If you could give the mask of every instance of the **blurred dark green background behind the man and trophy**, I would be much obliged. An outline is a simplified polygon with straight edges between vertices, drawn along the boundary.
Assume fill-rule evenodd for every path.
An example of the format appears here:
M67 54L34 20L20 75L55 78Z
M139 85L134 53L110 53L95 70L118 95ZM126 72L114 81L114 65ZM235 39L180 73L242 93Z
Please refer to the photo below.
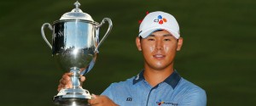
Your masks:
M41 26L71 11L76 0L6 0L0 3L1 106L54 106L64 71L57 69ZM256 105L256 1L79 0L84 13L113 20L84 88L101 94L112 82L143 70L135 38L146 12L173 14L183 48L175 69L207 92L208 106ZM102 26L101 35L108 25ZM51 32L45 30L50 40Z

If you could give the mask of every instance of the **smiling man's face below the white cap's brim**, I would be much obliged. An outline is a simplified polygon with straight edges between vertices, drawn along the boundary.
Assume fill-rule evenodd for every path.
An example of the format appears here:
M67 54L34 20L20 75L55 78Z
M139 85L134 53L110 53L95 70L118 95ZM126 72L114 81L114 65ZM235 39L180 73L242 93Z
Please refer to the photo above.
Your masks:
M141 47L145 65L155 70L163 70L173 64L177 51L177 39L168 31L155 31L142 39Z

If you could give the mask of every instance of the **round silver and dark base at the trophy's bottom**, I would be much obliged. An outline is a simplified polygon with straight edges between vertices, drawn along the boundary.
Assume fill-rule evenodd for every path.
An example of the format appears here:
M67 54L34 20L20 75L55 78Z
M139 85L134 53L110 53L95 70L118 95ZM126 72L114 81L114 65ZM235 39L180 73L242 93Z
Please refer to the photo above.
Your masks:
M53 102L61 106L89 106L87 100L90 98L90 92L82 88L62 89Z

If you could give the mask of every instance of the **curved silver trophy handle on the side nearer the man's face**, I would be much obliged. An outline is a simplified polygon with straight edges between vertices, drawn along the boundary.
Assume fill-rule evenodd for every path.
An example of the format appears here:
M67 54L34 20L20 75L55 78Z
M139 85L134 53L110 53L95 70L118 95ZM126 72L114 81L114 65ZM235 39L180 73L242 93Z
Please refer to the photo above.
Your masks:
M105 21L108 21L108 31L105 33L105 35L102 37L101 42L99 42L98 46L96 47L96 49L95 49L96 53L99 53L98 48L102 45L102 42L105 41L105 39L107 38L109 32L112 30L113 24L112 24L112 20L110 20L109 18L104 18L102 20L102 23L100 25L97 25L96 28L100 28L103 24L105 24Z

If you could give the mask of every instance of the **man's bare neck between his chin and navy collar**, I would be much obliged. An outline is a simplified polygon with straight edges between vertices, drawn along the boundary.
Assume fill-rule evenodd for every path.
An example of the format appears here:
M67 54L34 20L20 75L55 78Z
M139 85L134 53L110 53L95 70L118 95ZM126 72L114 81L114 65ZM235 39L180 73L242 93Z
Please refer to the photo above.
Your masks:
M150 86L157 86L160 82L165 81L168 76L172 75L173 71L173 66L170 66L164 70L154 70L145 67L143 75Z

